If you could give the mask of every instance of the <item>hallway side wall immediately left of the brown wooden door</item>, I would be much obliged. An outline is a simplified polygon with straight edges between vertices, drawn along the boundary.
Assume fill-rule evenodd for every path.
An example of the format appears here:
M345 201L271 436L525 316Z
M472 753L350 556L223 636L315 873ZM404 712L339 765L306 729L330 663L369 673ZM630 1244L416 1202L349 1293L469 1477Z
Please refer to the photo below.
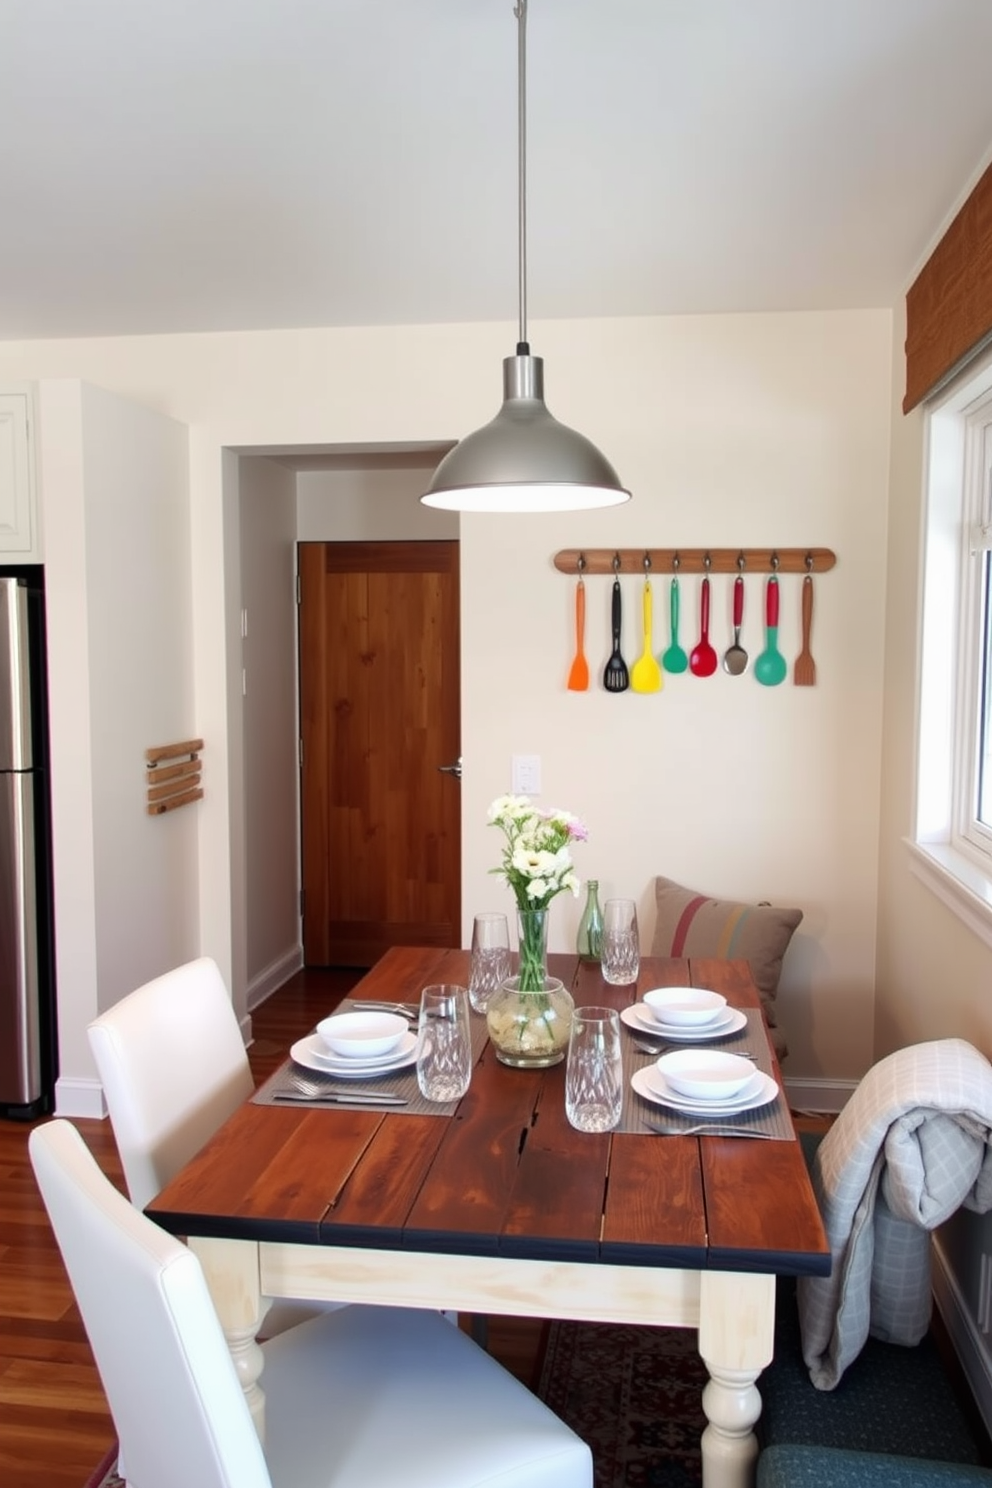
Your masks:
M241 460L244 844L248 1007L302 963L296 704L296 481Z

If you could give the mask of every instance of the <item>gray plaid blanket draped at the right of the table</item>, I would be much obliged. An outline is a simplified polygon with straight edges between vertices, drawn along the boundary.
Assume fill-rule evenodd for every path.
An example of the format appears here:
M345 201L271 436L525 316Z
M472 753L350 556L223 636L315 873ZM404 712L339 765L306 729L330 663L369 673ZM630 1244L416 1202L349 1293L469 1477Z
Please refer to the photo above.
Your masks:
M833 1268L797 1284L803 1359L833 1390L869 1333L918 1344L930 1323L930 1231L992 1208L992 1064L962 1039L900 1049L864 1076L824 1137L814 1189Z

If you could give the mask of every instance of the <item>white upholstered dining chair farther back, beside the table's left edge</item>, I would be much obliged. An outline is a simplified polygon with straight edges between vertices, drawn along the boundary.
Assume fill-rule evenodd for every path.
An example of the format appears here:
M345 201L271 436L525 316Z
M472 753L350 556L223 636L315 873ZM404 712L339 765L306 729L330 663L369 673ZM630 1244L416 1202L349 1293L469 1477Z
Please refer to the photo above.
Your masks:
M177 966L86 1030L131 1202L159 1193L254 1091L238 1016L217 963ZM333 1302L275 1302L272 1336Z

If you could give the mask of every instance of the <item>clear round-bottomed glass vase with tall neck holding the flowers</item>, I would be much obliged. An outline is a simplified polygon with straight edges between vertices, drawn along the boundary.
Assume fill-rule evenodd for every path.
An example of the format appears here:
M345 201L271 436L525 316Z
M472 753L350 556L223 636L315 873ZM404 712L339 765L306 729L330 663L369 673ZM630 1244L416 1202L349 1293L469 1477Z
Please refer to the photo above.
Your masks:
M547 909L518 911L518 973L489 998L486 1027L501 1064L546 1068L565 1058L574 1003L564 982L547 975Z

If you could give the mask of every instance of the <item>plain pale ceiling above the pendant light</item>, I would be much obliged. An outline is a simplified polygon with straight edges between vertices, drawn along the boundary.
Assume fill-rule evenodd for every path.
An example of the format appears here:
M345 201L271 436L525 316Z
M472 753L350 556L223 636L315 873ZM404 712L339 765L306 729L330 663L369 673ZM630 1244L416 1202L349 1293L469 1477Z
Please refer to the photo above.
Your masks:
M0 338L518 312L513 0L0 0ZM892 305L989 0L529 0L534 320Z

